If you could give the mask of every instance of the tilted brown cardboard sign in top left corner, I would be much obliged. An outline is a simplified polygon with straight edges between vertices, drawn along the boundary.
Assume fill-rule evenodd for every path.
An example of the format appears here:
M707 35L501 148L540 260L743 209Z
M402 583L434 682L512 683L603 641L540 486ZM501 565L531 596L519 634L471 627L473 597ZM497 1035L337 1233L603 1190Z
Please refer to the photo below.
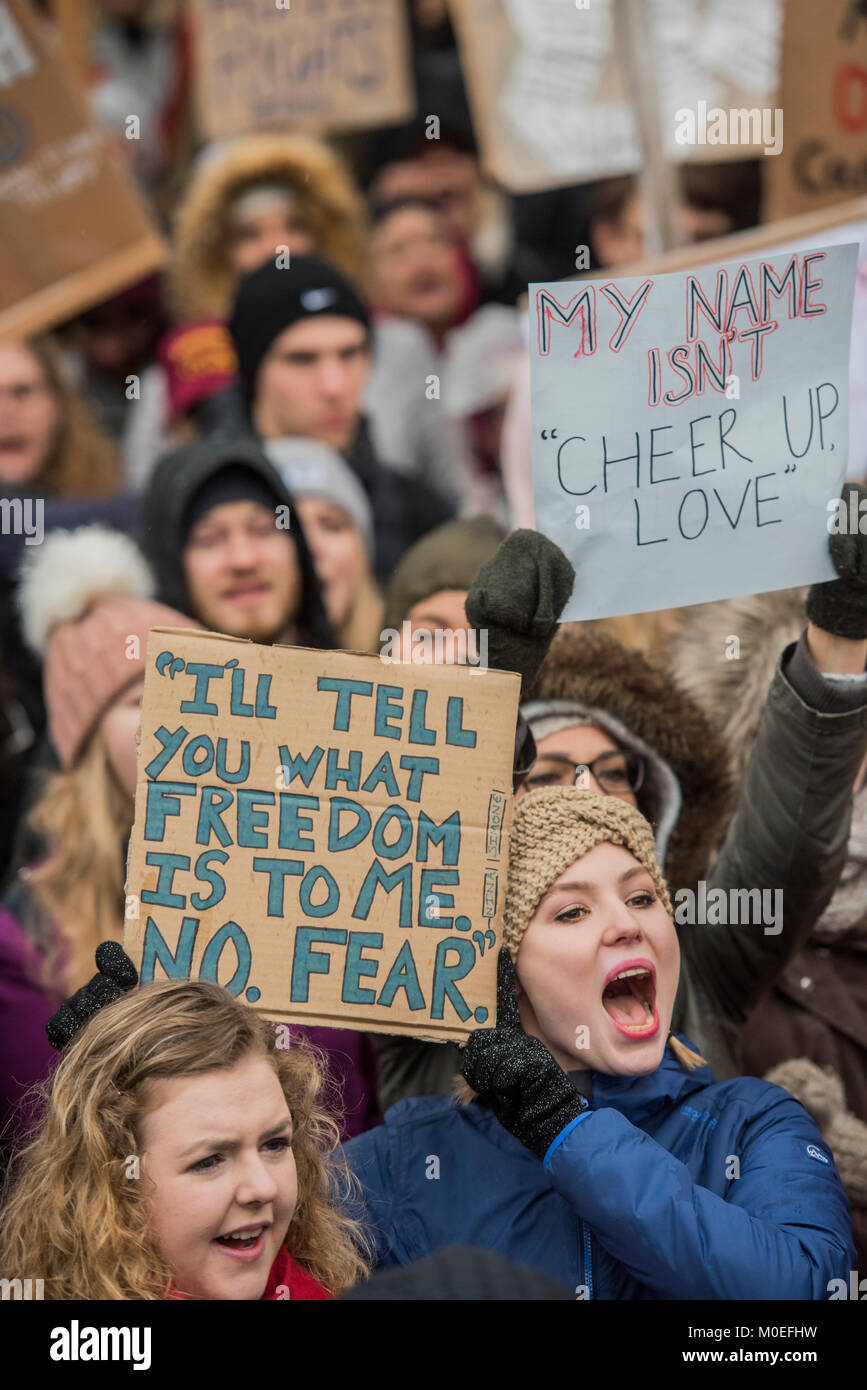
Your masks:
M165 245L54 33L0 0L0 338L25 338L157 270Z

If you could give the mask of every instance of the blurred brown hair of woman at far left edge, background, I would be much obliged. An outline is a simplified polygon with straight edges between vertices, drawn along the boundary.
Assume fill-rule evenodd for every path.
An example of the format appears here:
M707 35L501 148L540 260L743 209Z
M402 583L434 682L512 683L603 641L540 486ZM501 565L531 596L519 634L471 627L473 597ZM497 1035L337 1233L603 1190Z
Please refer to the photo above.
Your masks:
M121 475L117 450L69 381L61 349L47 336L29 338L21 346L36 357L58 411L54 448L33 481L49 496L58 498L117 491Z

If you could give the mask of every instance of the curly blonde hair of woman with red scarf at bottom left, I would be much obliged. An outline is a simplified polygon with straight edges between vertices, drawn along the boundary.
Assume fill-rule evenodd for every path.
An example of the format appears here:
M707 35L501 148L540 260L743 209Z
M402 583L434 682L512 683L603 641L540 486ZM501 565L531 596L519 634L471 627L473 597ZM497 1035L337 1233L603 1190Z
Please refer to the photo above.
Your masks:
M0 1234L4 1277L44 1279L53 1300L161 1300L172 1275L146 1194L142 1120L151 1083L261 1056L292 1112L297 1205L285 1245L336 1294L370 1264L361 1227L339 1209L356 1180L324 1108L324 1059L303 1040L278 1048L274 1023L217 984L149 984L94 1015L50 1083L38 1137L13 1158ZM132 1172L131 1172L132 1168ZM136 1175L136 1176L133 1176Z

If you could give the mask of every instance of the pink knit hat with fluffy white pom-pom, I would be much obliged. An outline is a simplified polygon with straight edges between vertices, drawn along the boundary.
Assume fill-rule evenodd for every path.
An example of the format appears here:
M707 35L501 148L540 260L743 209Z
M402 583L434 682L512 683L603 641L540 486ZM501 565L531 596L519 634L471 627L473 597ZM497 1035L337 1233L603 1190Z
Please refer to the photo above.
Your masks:
M135 543L101 525L54 531L28 555L18 591L24 635L43 657L49 733L75 764L108 706L144 673L151 627L196 627L154 603Z

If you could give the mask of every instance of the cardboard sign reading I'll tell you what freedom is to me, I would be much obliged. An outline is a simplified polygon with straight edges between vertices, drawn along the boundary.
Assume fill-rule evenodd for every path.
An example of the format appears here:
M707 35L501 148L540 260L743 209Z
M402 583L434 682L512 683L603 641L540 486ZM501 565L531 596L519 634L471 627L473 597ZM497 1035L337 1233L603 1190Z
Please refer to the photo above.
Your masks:
M495 1020L520 677L154 628L124 945L275 1019Z

